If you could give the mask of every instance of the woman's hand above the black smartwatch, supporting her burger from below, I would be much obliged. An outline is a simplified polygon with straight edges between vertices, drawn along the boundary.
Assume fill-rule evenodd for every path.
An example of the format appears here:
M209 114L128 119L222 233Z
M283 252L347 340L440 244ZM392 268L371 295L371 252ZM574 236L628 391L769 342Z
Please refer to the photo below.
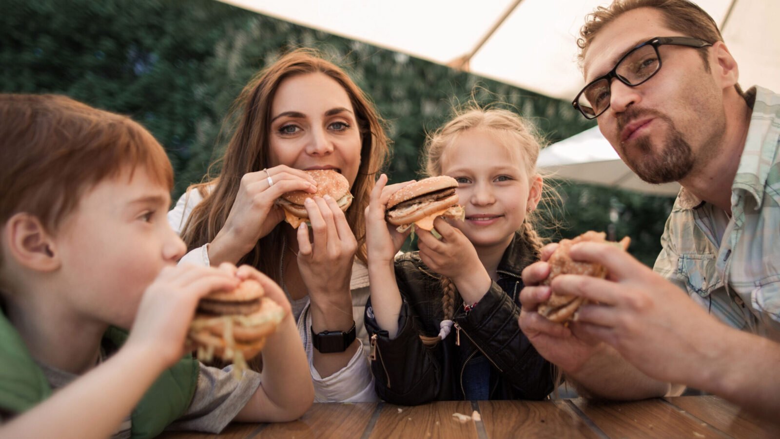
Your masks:
M306 223L301 223L298 227L297 262L311 303L317 308L314 316L322 312L329 319L330 309L335 308L345 314L339 321L343 320L345 324L349 322L351 326L353 316L349 280L352 277L357 240L344 212L329 195L307 198L303 206L309 214L312 236L310 240L309 228ZM321 322L315 323L316 330Z

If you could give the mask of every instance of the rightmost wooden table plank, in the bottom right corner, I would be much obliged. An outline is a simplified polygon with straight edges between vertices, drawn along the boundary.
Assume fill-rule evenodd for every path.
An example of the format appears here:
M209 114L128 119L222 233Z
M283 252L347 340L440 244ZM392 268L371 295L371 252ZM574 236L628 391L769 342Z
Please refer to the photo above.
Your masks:
M678 396L666 401L733 437L780 437L780 426L743 412L717 396Z

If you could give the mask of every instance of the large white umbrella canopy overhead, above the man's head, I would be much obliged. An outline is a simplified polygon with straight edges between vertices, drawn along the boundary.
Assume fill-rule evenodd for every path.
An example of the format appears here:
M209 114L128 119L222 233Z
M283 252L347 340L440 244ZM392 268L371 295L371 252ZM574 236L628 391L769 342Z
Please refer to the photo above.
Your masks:
M576 35L608 0L223 0L307 27L570 100ZM780 91L778 0L697 0L722 27L744 88ZM663 35L652 35L663 36Z

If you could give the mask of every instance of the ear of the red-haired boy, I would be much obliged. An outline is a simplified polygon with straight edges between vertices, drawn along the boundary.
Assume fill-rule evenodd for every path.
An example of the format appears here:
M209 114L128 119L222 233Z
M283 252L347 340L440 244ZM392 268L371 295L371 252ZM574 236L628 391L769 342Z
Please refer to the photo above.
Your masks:
M36 271L53 271L60 266L55 241L41 220L26 212L16 213L3 230L9 254L20 265Z

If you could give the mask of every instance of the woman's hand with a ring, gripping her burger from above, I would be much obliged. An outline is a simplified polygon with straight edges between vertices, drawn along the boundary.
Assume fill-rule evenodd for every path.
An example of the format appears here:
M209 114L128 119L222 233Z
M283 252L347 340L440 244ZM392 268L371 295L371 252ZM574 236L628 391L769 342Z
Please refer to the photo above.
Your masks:
M268 177L273 184L268 184ZM284 219L284 212L275 201L290 191L313 194L317 182L305 171L285 165L244 174L225 226L209 247L211 265L223 261L235 263L250 252L261 237Z

